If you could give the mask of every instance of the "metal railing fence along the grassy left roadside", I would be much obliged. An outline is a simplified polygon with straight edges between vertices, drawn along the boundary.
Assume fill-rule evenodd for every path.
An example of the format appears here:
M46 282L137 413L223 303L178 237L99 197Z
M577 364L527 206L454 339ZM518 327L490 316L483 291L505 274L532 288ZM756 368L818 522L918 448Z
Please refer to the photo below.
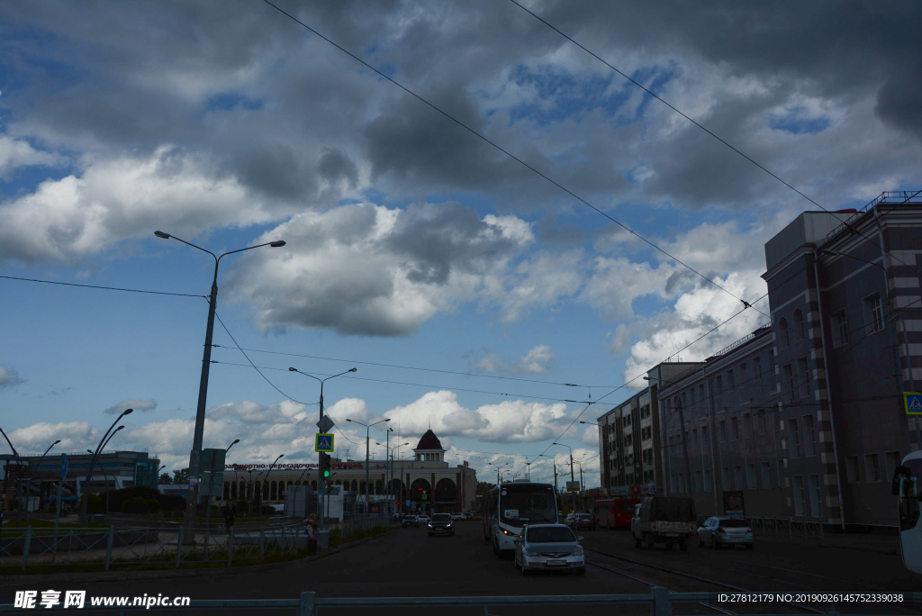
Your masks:
M28 571L82 565L109 571L138 564L179 568L183 563L253 564L284 558L306 548L302 521L225 532L217 527L53 528L27 527L22 534L0 540L0 567Z

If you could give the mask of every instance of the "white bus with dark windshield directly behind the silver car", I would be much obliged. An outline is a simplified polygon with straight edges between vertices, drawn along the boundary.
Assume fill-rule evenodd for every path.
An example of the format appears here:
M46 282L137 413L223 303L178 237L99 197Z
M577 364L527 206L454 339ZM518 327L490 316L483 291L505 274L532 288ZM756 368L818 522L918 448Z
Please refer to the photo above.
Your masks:
M493 553L514 551L527 524L557 524L557 497L550 483L501 483L483 495L483 539Z

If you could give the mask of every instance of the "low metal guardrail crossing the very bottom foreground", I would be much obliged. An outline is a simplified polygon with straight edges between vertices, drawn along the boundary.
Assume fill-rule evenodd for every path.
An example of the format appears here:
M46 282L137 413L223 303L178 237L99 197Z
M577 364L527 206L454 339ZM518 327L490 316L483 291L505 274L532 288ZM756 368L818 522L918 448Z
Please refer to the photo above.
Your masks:
M688 603L696 601L709 601L721 603L727 601L727 597L739 595L740 593L715 593L715 592L697 592L697 593L674 593L669 592L667 588L654 586L648 594L635 595L544 595L544 596L525 596L525 597L327 597L318 598L316 593L303 592L300 598L292 599L214 599L214 600L193 600L188 606L146 606L143 603L132 606L112 606L98 607L87 604L85 611L136 611L136 610L295 610L298 616L316 616L322 608L447 608L447 607L465 607L483 608L484 616L489 616L489 608L497 606L533 606L533 605L559 605L561 608L569 608L575 605L619 605L619 604L647 604L652 610L652 616L672 616L674 603ZM898 605L904 605L909 601L922 600L920 592L892 592L885 593L892 598L892 601L898 601ZM766 599L760 601L760 604L773 606L777 601L791 601L796 596L790 591L768 592L760 591L759 595ZM824 591L822 598L850 597L854 593L845 591ZM771 597L772 599L768 599ZM790 598L790 599L789 599ZM140 599L140 598L138 598ZM828 601L818 601L828 603ZM831 603L829 614L837 615ZM60 610L60 606L53 609ZM0 605L0 614L22 611L21 607L6 604ZM44 611L44 610L42 610ZM473 613L473 612L472 612ZM886 613L886 612L883 612ZM892 612L891 612L892 613ZM751 615L756 616L756 615ZM849 615L851 616L851 615ZM878 616L881 616L880 614Z

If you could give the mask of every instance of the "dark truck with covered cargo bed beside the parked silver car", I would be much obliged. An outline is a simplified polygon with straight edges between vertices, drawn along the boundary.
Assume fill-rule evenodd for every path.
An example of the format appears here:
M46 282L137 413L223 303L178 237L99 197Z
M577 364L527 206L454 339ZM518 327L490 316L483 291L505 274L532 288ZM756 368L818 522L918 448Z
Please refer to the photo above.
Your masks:
M653 550L656 543L665 543L668 550L676 543L681 551L688 550L688 541L697 532L698 518L690 498L676 496L646 496L634 507L631 533L634 546L646 543Z

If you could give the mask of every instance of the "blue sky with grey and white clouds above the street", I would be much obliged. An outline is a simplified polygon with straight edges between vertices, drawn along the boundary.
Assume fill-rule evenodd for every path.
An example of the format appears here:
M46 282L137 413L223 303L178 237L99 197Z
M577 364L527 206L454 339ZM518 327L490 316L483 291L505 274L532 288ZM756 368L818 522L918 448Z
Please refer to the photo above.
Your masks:
M0 275L199 296L0 278L0 425L81 451L133 408L111 447L187 466L213 262L153 231L282 239L221 261L206 446L313 460L288 368L357 367L325 385L339 456L391 419L481 471L559 440L597 485L573 421L761 297L816 207L513 2L278 6L441 113L257 0L0 7ZM526 6L822 207L919 187L916 2Z

